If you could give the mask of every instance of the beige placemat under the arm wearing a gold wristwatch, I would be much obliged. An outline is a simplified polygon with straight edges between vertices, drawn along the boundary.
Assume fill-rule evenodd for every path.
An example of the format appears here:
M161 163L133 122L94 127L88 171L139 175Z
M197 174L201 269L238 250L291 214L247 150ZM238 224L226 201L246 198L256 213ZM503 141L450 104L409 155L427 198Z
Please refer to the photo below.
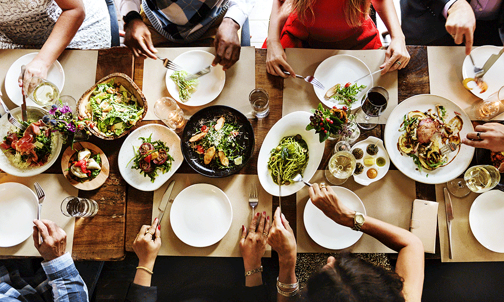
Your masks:
M324 171L319 170L311 182L325 181ZM353 191L364 203L366 214L382 221L409 230L411 209L415 199L415 182L397 170L389 171L381 180L368 186L357 184L353 177L342 187ZM304 207L308 201L308 190L302 189L296 193L297 200L297 252L298 253L329 253L315 243L304 228ZM394 253L373 237L362 234L362 237L351 247L345 249L352 253Z

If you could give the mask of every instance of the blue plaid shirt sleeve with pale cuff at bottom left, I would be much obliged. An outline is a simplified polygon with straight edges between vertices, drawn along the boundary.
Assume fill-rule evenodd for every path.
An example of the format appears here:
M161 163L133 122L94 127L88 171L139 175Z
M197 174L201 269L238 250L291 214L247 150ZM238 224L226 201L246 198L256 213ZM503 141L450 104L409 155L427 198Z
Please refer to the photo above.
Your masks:
M88 289L75 268L70 253L42 262L54 302L89 302Z

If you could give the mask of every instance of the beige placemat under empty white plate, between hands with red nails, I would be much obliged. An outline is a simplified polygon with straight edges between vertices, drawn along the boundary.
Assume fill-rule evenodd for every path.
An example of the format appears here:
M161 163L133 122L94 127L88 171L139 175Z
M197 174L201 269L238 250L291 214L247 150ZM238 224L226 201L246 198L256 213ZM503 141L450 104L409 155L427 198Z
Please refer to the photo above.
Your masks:
M173 233L170 224L170 208L168 203L161 223L161 250L159 255L163 256L214 256L214 257L241 257L238 242L241 236L241 226L248 228L252 215L252 208L248 206L248 193L250 184L256 183L259 192L259 204L255 212L266 211L271 217L272 196L263 190L257 175L232 175L226 178L208 178L200 174L175 174L171 180L175 181L173 196L176 196L184 188L198 183L212 184L226 193L233 208L233 221L227 234L216 244L195 248L186 245ZM152 205L152 218L159 214L159 203L163 197L170 181L167 181L161 188L154 191L154 201ZM268 245L264 257L271 257L271 247Z

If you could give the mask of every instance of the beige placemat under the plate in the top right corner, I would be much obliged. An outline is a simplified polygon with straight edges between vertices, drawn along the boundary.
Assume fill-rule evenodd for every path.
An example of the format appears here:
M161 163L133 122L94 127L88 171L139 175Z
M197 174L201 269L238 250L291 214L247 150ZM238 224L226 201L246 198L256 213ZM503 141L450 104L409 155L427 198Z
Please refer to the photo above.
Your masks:
M430 94L449 99L459 105L471 120L474 103L480 98L462 85L462 63L466 57L464 46L427 46ZM504 114L494 119L504 119Z

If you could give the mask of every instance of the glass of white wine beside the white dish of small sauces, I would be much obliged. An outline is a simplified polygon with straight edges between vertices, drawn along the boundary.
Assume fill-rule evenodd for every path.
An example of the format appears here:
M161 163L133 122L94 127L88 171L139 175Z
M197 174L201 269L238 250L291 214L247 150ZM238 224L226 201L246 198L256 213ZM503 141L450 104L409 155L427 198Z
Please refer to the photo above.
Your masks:
M350 144L340 141L335 147L336 153L329 159L324 173L327 181L333 185L343 184L355 171L355 157L348 150Z

